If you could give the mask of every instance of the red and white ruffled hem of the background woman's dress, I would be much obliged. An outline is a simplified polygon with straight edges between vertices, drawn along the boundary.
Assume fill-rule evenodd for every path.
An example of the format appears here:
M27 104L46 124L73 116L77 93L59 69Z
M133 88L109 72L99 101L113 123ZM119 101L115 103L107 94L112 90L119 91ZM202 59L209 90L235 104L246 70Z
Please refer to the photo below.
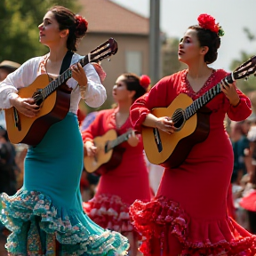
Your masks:
M119 196L101 194L83 203L84 212L102 228L116 232L135 231L129 216L129 204Z

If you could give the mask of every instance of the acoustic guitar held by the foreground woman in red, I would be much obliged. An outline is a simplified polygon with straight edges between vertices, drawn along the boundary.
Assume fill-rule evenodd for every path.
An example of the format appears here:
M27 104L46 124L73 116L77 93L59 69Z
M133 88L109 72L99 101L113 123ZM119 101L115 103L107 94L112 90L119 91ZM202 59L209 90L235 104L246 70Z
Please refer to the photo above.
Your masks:
M142 126L142 140L148 161L171 168L182 164L191 148L208 137L211 111L205 105L221 92L220 85L247 79L252 74L255 76L255 70L256 56L253 56L195 101L187 94L180 93L167 108L152 109L151 113L156 117L170 116L177 132L168 134L157 128Z

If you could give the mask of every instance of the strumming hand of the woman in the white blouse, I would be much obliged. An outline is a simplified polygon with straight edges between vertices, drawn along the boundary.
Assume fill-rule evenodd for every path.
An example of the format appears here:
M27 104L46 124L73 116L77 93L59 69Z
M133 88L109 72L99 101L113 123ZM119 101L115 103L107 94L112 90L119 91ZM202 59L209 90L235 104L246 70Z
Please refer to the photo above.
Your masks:
M11 99L10 103L20 113L28 117L35 117L40 111L40 107L35 104L35 100L32 98L20 98Z

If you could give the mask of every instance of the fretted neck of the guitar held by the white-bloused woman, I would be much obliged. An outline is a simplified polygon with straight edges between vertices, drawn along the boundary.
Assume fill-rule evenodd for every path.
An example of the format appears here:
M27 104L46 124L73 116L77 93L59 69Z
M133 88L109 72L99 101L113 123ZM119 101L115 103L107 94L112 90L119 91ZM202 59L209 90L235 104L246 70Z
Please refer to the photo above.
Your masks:
M86 64L90 62L89 55L90 54L85 55L84 58L78 60L77 63L79 62L82 65L82 67L84 67ZM46 99L52 92L54 92L61 84L66 83L68 79L71 78L71 76L72 76L72 71L70 68L68 68L55 80L52 80L50 84L48 84L44 89L42 89L42 94L44 95L44 99Z

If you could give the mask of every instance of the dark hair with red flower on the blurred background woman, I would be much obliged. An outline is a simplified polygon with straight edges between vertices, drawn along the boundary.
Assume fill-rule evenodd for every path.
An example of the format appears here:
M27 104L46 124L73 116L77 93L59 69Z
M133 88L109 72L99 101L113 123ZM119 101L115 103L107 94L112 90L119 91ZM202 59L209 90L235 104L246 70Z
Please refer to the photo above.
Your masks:
M124 73L122 76L124 76L124 84L126 84L126 88L128 91L135 91L136 93L134 94L133 100L137 100L148 92L148 85L150 84L150 79L148 77L148 83L141 83L141 77L142 76L137 76L133 73Z

